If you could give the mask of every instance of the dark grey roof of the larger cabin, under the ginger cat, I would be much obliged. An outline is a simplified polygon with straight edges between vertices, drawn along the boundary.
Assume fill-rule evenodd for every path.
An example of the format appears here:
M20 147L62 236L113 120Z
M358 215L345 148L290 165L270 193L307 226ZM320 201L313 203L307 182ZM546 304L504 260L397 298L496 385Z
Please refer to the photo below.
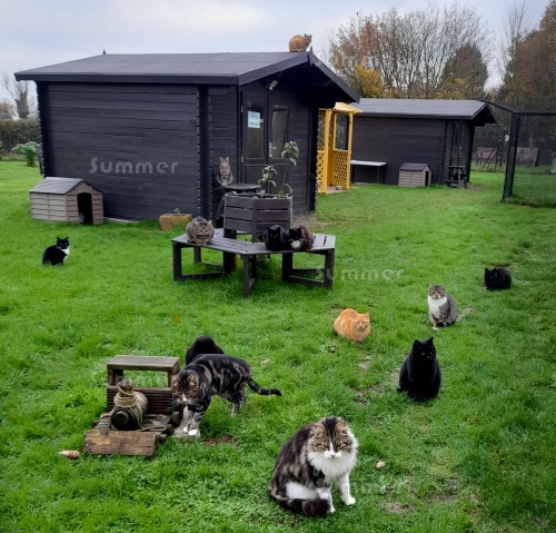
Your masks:
M221 53L102 53L59 65L16 72L18 80L70 82L147 82L242 86L285 70L306 66L309 85L340 89L342 99L359 95L335 75L312 51Z

